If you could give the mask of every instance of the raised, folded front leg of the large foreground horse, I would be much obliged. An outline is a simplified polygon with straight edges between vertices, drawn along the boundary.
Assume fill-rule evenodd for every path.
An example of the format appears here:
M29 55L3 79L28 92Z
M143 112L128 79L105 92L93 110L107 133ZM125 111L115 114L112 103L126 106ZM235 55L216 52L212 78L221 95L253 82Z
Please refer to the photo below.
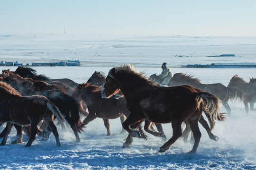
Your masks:
M136 124L137 122L141 122L143 121L144 118L140 118L137 115L132 115L130 114L128 116L128 118L123 122L123 127L126 131L128 131L128 133L133 136L133 137L138 137L138 138L143 138L143 139L147 139L145 133L142 133L138 130L132 129L130 127L130 125ZM139 124L138 124L139 125ZM137 128L137 127L136 127Z

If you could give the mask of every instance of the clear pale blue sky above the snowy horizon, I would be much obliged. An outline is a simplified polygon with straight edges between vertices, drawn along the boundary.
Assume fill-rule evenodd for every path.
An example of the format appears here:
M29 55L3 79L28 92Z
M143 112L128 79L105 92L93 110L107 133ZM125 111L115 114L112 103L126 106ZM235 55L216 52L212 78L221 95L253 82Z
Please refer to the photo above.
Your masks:
M0 0L0 34L256 36L256 0Z

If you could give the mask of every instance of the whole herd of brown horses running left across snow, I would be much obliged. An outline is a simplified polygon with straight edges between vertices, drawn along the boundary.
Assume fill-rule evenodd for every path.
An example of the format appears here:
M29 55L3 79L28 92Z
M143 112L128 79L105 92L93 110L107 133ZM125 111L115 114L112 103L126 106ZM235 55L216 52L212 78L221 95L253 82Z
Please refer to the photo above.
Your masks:
M200 80L183 73L174 74L169 84L161 85L159 76L148 79L133 65L112 68L108 76L93 73L86 83L77 84L70 79L50 79L37 75L36 70L20 66L16 71L3 70L0 74L0 126L7 122L0 134L6 144L11 128L17 129L17 139L12 144L22 143L22 130L29 137L30 146L35 136L47 139L54 134L57 147L59 135L54 120L64 128L68 123L80 142L78 133L96 118L102 118L111 136L109 119L120 118L128 137L123 148L130 147L133 137L147 139L144 130L166 140L162 123L172 123L173 136L160 147L165 152L179 138L187 141L190 132L194 145L189 153L196 153L201 138L198 122L206 129L210 139L219 140L211 133L215 121L225 119L219 113L222 103L231 113L229 100L244 102L248 113L256 102L256 79L245 82L233 76L228 87L218 84L201 84ZM86 111L88 109L88 112ZM203 118L206 115L210 126ZM81 122L81 117L86 118ZM144 130L141 123L145 121ZM182 123L186 124L182 132ZM39 127L38 127L39 126ZM154 129L157 128L157 131Z

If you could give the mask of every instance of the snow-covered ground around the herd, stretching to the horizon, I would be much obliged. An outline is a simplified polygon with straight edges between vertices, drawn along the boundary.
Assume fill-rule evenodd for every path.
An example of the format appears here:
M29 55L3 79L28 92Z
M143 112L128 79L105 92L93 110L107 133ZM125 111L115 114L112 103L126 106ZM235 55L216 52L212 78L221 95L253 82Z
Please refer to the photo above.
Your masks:
M145 71L150 76L161 73L160 66L163 61L166 61L167 65L256 61L256 42L250 37L157 39L132 37L124 40L112 38L109 41L99 38L94 43L93 40L68 42L66 38L52 40L49 37L41 37L40 41L35 38L36 42L31 41L33 39L33 36L1 37L0 60L31 63L35 60L79 59L84 61L83 66L88 67L34 67L38 74L45 74L50 78L70 78L77 83L86 82L94 71L107 74L113 66L127 62L135 63L138 70ZM90 46L93 44L95 45ZM81 48L78 48L79 46ZM76 54L73 54L74 51L77 51ZM205 57L225 53L232 53L237 57ZM175 54L184 57L176 57ZM185 57L186 55L190 57ZM0 67L0 69L8 68L15 70L17 67ZM204 84L228 85L235 74L243 77L245 81L249 81L249 77L256 77L255 68L171 68L171 70L173 73L192 74ZM231 116L226 121L217 122L213 129L213 134L219 136L218 142L210 140L200 125L202 137L196 154L186 154L192 149L192 144L185 144L183 140L177 140L166 153L158 153L159 147L165 142L150 134L147 135L147 141L136 138L130 148L121 149L128 134L120 134L120 119L110 120L112 136L107 137L103 120L97 118L84 128L84 132L80 135L80 143L75 143L72 130L62 131L61 127L58 127L61 148L55 147L53 135L48 141L40 141L40 137L37 137L30 148L24 147L28 141L25 135L23 144L10 144L16 138L16 130L12 129L7 144L0 146L0 169L255 170L256 112L249 111L246 115L243 103L229 102L229 104L232 109ZM226 110L222 108L221 112ZM0 131L4 127L0 127ZM163 128L167 138L170 138L171 124L164 124Z

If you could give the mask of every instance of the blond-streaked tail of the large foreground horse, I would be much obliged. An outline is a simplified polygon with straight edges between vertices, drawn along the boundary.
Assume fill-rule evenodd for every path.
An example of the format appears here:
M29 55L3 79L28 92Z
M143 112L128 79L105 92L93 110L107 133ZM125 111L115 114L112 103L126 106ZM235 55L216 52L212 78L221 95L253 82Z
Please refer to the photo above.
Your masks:
M199 100L199 106L203 101L203 111L210 122L211 131L215 125L215 120L223 121L225 119L225 113L219 113L221 101L218 97L208 92L198 92L196 97Z

